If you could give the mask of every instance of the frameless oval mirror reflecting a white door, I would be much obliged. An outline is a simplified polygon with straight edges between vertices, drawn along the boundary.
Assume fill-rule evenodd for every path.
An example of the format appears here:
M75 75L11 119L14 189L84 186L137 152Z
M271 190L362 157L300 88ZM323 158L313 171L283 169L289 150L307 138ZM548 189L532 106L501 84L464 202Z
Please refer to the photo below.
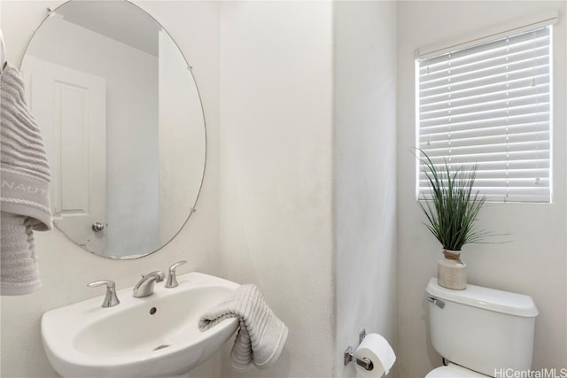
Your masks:
M106 258L138 258L190 217L206 132L183 54L124 0L50 11L21 66L50 158L56 226Z

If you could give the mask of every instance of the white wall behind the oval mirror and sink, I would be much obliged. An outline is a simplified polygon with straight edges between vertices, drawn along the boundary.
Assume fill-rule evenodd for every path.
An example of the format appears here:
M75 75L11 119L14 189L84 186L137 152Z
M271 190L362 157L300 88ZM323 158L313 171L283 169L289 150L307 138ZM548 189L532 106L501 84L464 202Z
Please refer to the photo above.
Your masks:
M19 66L27 42L46 16L47 6L62 1L6 1L0 4L7 58ZM117 261L99 258L68 241L58 230L35 233L35 251L40 261L43 289L24 297L1 297L1 359L3 377L51 377L57 374L47 361L40 340L43 312L89 297L103 289L85 285L99 279L116 281L117 287L134 285L140 274L167 269L187 259L180 273L197 270L219 274L219 4L209 2L144 1L139 3L159 20L175 38L193 66L203 97L207 122L207 169L199 197L198 212L172 243L147 258ZM108 57L105 57L108 58ZM200 376L221 374L220 354L194 372Z

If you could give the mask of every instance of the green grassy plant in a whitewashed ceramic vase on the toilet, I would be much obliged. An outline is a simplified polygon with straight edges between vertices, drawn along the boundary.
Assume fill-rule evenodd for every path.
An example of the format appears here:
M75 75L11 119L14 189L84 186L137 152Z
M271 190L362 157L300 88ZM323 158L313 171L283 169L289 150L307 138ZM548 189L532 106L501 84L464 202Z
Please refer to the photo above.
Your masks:
M478 166L450 166L438 168L423 150L423 174L431 197L419 201L427 222L425 225L443 246L444 258L438 262L438 283L447 289L466 289L466 265L461 261L462 246L478 242L486 235L475 228L475 221L486 197L473 189Z

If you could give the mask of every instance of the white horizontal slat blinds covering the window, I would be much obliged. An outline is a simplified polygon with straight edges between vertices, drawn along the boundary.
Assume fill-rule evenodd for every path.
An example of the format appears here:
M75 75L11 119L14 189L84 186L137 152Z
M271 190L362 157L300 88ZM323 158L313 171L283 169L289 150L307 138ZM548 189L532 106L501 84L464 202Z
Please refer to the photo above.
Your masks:
M550 202L550 45L542 27L417 59L418 147L435 165L477 163L488 201Z

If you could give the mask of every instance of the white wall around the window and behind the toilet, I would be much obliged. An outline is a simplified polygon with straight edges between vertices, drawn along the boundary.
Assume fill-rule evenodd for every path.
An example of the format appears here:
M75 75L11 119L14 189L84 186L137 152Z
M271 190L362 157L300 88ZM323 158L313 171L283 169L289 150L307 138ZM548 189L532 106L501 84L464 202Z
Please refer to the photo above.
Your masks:
M478 222L509 233L505 244L465 246L469 282L527 294L540 310L534 369L567 366L565 186L565 2L400 2L398 4L398 355L400 377L422 377L441 359L427 328L425 285L436 274L441 247L423 226L415 200L414 50L548 9L561 11L554 27L555 127L553 204L486 206Z

